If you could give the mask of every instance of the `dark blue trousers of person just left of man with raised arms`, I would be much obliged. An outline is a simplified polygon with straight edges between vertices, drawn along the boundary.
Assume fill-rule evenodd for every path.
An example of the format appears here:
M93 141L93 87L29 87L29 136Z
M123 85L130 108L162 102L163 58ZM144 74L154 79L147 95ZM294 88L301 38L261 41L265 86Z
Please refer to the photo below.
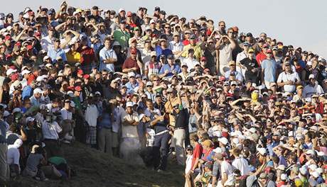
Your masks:
M168 142L171 135L168 132L154 137L154 168L166 170L168 158Z

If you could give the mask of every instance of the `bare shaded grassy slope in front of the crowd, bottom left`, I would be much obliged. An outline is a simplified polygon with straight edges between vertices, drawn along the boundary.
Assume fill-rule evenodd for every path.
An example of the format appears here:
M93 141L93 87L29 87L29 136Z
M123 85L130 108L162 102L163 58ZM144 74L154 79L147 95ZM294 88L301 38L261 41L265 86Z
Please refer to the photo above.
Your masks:
M77 176L69 181L35 181L20 177L9 186L183 186L183 167L170 161L167 171L158 173L143 166L126 164L122 159L109 159L106 154L78 142L63 145L65 159Z

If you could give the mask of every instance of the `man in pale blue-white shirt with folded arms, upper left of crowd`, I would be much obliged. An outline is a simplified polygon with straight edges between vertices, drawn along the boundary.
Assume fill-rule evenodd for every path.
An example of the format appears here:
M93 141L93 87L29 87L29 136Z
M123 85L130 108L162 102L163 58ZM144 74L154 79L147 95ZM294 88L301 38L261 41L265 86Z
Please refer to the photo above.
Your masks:
M117 62L117 55L110 46L110 38L104 39L104 47L100 50L100 71L106 69L109 72L114 72L114 63Z

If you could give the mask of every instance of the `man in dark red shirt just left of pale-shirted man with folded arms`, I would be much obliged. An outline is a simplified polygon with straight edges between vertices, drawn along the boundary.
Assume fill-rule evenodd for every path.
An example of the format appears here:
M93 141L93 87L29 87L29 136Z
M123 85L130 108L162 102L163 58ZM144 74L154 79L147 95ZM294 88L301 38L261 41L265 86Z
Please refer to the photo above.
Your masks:
M77 52L80 52L80 64L84 73L90 74L92 69L92 63L97 61L97 56L95 51L87 46L87 37L82 36L80 42L80 47L78 47Z

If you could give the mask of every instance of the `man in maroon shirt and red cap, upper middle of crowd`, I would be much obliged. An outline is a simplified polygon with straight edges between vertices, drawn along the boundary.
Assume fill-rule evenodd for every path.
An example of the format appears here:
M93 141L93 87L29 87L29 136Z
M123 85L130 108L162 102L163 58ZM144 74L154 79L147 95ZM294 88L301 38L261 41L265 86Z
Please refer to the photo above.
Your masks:
M128 72L136 72L138 74L141 73L140 69L143 67L141 62L141 57L137 55L137 51L135 49L131 50L131 57L128 57L122 67L123 73Z

